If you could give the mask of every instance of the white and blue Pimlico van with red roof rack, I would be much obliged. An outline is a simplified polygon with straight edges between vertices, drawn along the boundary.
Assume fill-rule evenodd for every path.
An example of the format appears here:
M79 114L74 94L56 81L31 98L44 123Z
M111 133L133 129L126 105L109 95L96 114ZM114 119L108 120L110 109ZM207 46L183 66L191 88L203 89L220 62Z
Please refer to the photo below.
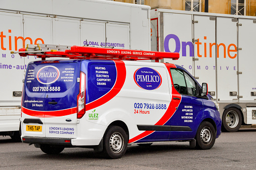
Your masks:
M110 158L123 156L128 144L189 141L199 149L214 145L221 118L206 83L201 87L178 65L128 61L143 55L158 60L173 53L72 48L62 54L69 60L29 63L22 95L24 143L48 154L90 147ZM27 51L21 56L55 53L59 57L60 52Z

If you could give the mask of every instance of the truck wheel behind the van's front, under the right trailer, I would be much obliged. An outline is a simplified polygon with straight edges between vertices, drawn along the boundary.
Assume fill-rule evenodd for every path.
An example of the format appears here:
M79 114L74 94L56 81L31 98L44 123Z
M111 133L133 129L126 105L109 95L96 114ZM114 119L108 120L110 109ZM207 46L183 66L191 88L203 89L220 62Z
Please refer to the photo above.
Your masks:
M242 124L242 115L239 109L230 107L222 115L222 131L235 132Z

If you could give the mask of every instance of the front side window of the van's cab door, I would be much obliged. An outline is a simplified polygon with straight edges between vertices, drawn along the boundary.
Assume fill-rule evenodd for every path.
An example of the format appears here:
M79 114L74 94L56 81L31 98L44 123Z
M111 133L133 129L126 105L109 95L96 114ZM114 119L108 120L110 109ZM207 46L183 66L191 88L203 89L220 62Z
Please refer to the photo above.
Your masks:
M174 87L180 94L197 95L196 82L184 71L170 69L174 81Z

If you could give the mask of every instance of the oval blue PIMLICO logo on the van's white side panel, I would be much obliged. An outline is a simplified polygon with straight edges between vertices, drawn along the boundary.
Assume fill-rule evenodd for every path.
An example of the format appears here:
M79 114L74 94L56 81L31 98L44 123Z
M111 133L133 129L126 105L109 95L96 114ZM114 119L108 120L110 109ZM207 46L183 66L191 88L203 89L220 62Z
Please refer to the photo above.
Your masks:
M160 74L156 70L148 67L137 69L134 72L133 78L135 83L145 90L157 89L162 83Z

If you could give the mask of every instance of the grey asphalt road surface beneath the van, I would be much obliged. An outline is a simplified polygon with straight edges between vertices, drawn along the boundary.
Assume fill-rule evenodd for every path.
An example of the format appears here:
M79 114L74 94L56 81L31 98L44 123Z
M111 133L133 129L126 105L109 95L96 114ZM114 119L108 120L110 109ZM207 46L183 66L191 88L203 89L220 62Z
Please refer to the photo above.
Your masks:
M48 155L34 145L0 136L0 169L256 169L256 128L221 133L209 150L189 142L128 146L120 159L105 159L88 148Z

